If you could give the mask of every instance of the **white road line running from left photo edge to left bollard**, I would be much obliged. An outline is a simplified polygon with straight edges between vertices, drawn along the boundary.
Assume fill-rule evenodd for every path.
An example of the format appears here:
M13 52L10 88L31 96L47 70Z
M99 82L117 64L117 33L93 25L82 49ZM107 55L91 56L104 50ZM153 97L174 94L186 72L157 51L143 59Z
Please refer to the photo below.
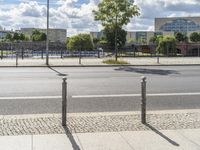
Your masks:
M0 100L19 100L19 99L56 99L61 96L24 96L24 97L0 97Z

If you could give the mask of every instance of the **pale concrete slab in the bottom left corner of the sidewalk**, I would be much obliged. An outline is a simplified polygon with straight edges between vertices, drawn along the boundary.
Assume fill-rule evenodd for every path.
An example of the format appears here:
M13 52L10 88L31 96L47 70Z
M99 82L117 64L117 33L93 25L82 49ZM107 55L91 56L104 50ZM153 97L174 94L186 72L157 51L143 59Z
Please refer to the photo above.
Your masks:
M32 136L0 136L0 150L32 150Z

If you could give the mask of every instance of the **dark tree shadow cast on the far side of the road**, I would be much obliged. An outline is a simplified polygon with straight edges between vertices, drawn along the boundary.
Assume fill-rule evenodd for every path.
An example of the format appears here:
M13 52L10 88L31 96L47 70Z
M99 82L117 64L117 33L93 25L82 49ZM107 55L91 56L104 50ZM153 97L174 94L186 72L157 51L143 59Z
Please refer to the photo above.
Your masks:
M141 74L157 74L157 75L170 75L170 74L179 74L178 71L174 70L163 70L163 69L144 69L144 68L134 68L134 67L119 67L114 69L116 71L127 71L127 72L136 72Z

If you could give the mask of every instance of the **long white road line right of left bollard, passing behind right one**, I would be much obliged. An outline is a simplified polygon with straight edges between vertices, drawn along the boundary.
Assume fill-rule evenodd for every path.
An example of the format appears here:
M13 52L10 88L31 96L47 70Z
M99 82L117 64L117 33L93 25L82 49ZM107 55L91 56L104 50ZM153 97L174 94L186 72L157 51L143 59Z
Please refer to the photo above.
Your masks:
M147 96L192 96L200 95L200 92L190 93L154 93ZM139 97L141 94L111 94L111 95L74 95L72 98L103 98L103 97Z

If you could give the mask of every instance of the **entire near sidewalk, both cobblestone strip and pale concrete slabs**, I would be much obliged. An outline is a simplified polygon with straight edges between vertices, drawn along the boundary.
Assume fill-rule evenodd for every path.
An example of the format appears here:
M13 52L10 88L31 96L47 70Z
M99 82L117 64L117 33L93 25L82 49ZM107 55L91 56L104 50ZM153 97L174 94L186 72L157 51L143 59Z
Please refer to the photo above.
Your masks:
M199 150L200 110L0 116L2 150Z

